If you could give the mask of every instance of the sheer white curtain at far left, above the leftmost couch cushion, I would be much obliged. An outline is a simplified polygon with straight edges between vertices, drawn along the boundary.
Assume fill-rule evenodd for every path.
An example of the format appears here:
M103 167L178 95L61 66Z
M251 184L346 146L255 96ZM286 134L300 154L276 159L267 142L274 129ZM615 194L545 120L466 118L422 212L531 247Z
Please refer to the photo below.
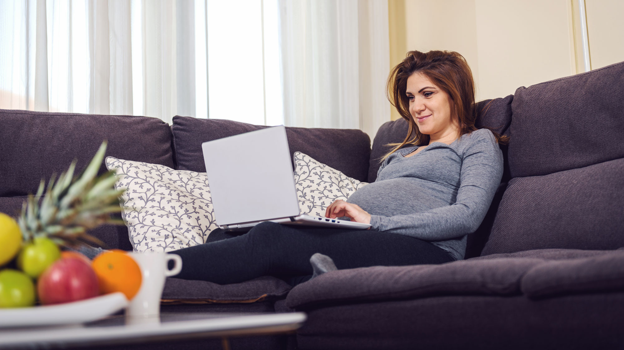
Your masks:
M203 0L2 1L0 107L206 118L205 19Z

